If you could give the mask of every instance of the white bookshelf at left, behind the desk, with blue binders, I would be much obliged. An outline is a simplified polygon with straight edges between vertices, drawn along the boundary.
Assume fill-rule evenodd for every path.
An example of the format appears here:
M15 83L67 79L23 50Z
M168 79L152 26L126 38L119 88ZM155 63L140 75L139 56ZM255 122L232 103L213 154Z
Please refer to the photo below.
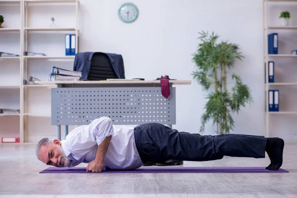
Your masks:
M18 6L18 13L9 10L16 12L15 6ZM51 12L48 11L50 9ZM28 85L23 84L23 80L28 80L29 76L48 80L52 66L71 69L75 56L65 55L64 38L65 34L75 34L78 52L79 9L79 0L0 0L0 11L6 11L5 22L2 24L4 28L0 28L0 35L3 34L5 39L10 36L19 38L19 43L12 44L12 53L19 56L0 57L0 67L14 65L14 69L18 69L12 78L17 79L17 82L0 82L0 104L13 107L17 105L20 109L19 114L0 113L0 125L9 123L12 126L10 131L7 131L7 127L0 129L0 137L20 137L21 144L36 143L43 136L55 137L55 126L50 124L50 89L56 85ZM1 15L2 13L0 12ZM52 14L50 17L55 17L56 27L50 27L49 13ZM15 15L19 17L16 19ZM9 21L10 17L14 17L13 22L12 19ZM68 17L71 20L65 23ZM15 21L20 25L15 25ZM0 43L0 51L5 51L3 48ZM26 56L23 51L45 53L46 56ZM8 72L6 79L9 79L10 76L7 75L11 74L12 72ZM1 93L4 93L4 98ZM13 97L11 101L10 95Z

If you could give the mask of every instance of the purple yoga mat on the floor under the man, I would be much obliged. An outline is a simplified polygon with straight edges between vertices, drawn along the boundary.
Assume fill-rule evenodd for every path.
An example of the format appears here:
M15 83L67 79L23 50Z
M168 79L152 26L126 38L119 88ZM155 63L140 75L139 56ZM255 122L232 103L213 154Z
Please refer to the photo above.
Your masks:
M142 166L135 170L103 170L99 173L286 173L284 169L266 170L265 167L187 167L187 166ZM92 173L86 167L49 167L40 173Z

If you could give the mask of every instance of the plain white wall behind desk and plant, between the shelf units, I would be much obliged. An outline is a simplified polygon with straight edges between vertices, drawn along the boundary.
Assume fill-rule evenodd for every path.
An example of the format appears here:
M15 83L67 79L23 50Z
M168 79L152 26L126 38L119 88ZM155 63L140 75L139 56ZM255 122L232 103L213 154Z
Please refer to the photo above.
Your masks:
M262 3L258 0L132 2L138 6L140 15L136 22L125 24L117 16L123 1L81 1L80 50L121 53L127 78L151 80L169 75L179 80L193 80L192 54L197 50L198 32L214 31L222 39L239 44L246 56L237 64L235 72L250 87L254 103L234 116L234 133L262 135ZM190 86L177 86L176 129L198 133L205 94L195 80ZM209 124L206 133L213 134L214 129Z

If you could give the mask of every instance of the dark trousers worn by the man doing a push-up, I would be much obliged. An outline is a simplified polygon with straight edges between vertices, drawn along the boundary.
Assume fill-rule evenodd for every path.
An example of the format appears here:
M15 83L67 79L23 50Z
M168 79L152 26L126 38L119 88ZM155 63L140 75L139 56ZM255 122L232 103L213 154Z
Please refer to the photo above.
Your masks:
M142 161L162 163L169 159L209 161L224 156L264 158L264 136L223 134L217 136L178 132L165 125L148 123L134 129Z

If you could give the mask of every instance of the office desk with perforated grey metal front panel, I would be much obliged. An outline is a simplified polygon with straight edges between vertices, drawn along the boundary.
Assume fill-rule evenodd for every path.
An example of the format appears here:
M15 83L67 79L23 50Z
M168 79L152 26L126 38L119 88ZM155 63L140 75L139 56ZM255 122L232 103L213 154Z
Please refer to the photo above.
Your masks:
M191 80L170 80L170 96L161 94L159 80L153 81L35 81L51 88L51 125L56 125L61 140L69 125L87 125L108 116L114 125L138 125L158 122L169 127L176 123L176 87Z

